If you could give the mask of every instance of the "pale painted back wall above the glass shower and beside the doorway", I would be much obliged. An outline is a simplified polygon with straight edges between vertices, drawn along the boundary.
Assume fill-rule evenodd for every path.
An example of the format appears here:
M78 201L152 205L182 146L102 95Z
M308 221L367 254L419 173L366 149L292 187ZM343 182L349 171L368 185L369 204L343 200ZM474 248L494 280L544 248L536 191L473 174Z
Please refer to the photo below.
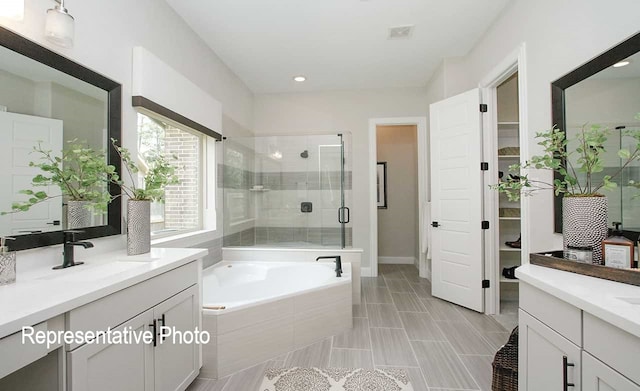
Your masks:
M351 132L353 247L363 248L363 268L370 267L369 119L424 116L426 89L327 91L256 95L256 134Z

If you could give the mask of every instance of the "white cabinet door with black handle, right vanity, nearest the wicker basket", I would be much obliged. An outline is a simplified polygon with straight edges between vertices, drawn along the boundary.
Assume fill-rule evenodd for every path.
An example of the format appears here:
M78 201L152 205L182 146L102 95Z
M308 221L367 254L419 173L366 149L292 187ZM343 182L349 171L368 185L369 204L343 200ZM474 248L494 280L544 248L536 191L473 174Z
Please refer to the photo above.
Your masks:
M580 390L580 348L526 311L519 314L518 390Z

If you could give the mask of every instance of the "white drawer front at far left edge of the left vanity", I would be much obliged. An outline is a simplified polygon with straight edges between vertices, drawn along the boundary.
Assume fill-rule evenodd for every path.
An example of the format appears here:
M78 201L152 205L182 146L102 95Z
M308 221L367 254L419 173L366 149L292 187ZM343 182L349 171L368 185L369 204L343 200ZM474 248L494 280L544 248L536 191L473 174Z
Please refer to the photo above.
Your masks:
M33 326L33 338L35 340L37 333L63 330L64 318L60 315ZM46 344L31 343L28 337L23 344L22 339L22 331L0 339L0 379L60 347L60 344L54 344L47 349Z

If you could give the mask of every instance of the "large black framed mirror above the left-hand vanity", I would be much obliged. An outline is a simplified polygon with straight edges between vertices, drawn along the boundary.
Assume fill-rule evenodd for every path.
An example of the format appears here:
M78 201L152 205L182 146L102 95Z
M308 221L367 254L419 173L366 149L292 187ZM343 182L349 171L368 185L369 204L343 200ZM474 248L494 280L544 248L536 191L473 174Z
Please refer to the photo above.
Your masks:
M122 139L122 86L119 83L3 27L0 27L0 52L0 90L4 91L4 94L0 91L0 121L4 121L0 122L3 128L1 132L12 132L13 139L15 134L21 134L24 140L31 141L31 145L41 141L41 134L55 134L52 137L55 142L48 145L56 147L71 138L95 142L100 150L106 151L107 163L120 171L120 157L109 142L111 138ZM20 128L17 123L20 123ZM43 133L39 132L45 128L42 124L57 127L51 125ZM56 130L51 130L54 128ZM7 139L11 137L7 136ZM35 160L32 156L25 156L31 150L25 142L10 147L6 142L3 144L11 154L9 160L18 162L11 163L12 170L28 166L25 162ZM17 152L20 148L22 152ZM55 152L61 148L50 149ZM22 172L20 175L22 179L15 179L19 177L18 174L12 174L11 177L5 175L5 179L11 179L7 182L13 183L5 183L4 186L9 190L0 192L3 211L7 204L5 198L15 197L15 190L24 185L25 178L33 176ZM114 184L108 185L108 191L114 197L120 194L120 188ZM25 250L62 243L62 232L67 228L65 217L58 219L55 216L62 216L58 209L64 209L66 204L60 200L62 197L55 204L47 206L47 210L53 212L47 212L51 221L45 223L44 228L24 222L20 225L10 220L3 221L2 235L16 238L9 243L10 248ZM119 235L121 209L120 197L116 197L105 213L94 214L90 225L80 228L84 232L78 237L91 239ZM11 215L19 216L21 213ZM50 216L54 217L51 219Z

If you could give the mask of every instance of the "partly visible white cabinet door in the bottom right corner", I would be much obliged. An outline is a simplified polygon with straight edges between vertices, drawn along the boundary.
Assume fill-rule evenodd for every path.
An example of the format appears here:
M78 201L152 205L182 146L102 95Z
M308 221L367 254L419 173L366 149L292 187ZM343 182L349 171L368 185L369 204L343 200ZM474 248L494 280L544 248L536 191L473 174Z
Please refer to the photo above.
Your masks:
M582 352L583 391L640 391L640 386L587 352Z

